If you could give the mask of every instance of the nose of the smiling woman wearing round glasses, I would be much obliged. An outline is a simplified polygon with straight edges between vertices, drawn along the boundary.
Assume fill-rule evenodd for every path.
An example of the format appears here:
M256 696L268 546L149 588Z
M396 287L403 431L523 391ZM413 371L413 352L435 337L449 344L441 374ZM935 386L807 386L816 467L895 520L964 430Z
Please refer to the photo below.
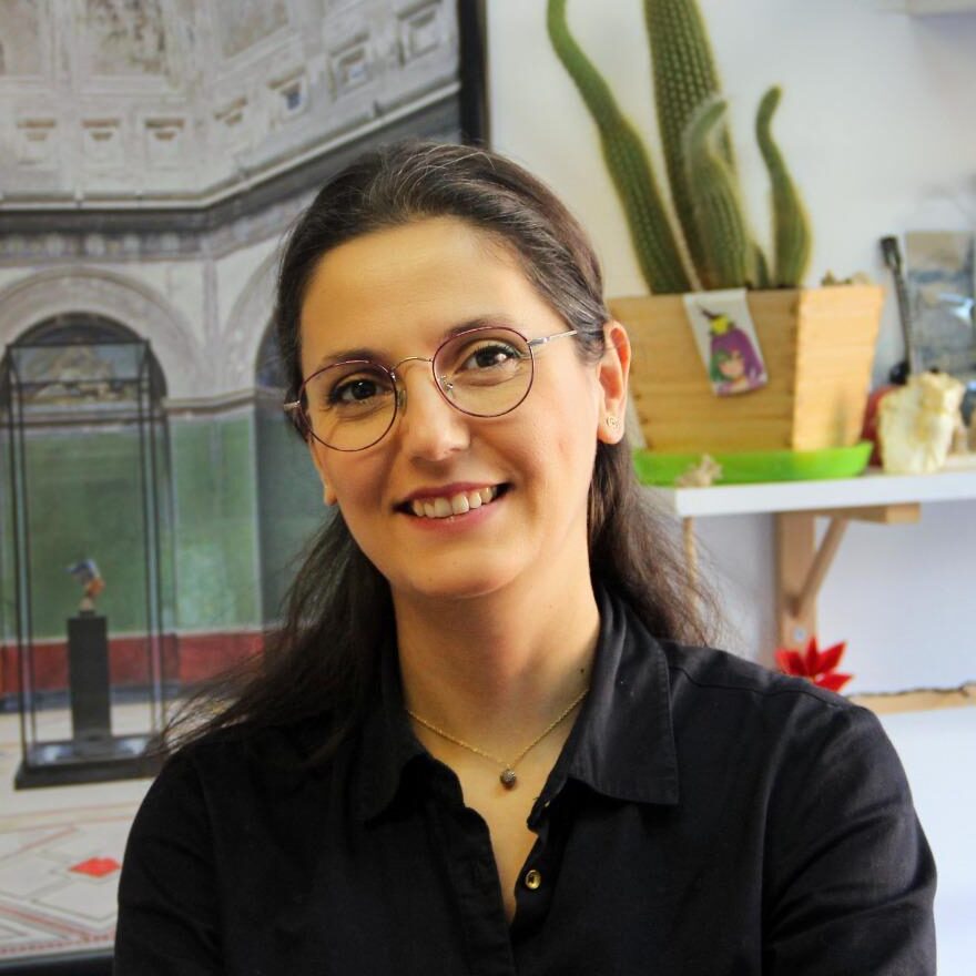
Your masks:
M398 364L398 429L406 453L421 460L446 460L470 443L468 418L448 404L430 369L429 359Z

